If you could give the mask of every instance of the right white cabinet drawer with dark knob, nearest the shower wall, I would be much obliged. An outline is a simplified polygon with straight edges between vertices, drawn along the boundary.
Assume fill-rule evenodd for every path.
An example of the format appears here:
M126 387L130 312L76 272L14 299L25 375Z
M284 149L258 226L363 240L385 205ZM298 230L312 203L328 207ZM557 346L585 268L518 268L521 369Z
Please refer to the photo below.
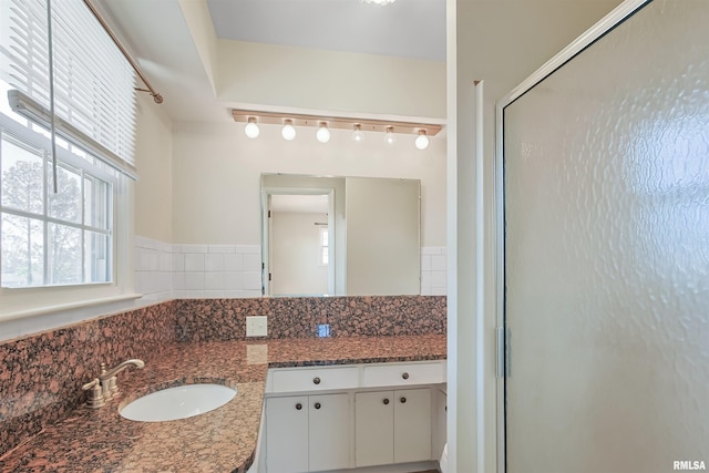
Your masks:
M364 367L362 385L438 384L445 382L445 364L441 361L424 363L379 364Z

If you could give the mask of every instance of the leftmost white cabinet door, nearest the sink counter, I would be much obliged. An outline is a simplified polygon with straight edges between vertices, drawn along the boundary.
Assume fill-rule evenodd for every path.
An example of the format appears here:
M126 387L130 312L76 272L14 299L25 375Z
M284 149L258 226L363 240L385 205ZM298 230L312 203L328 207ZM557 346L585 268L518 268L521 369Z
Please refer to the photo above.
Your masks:
M308 471L308 398L266 400L266 471Z

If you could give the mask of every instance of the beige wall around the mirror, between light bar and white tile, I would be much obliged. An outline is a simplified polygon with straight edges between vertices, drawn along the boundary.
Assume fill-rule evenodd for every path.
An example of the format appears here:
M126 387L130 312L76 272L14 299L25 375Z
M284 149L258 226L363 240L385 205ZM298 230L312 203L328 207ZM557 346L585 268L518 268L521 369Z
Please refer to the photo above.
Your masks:
M422 245L445 244L443 134L419 151L413 135L389 147L382 134L354 143L338 130L327 144L315 140L316 128L298 128L292 142L276 125L263 125L257 140L236 123L173 130L173 243L260 245L260 174L288 173L421 179Z

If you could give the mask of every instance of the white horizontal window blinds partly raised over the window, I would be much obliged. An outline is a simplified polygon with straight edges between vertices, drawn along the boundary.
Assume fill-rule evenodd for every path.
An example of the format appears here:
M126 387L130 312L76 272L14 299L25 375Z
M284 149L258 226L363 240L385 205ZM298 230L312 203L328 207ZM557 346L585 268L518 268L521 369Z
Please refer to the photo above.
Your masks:
M82 0L51 4L58 133L135 176L133 69ZM16 110L47 122L47 0L1 0L0 9L0 79L20 92Z

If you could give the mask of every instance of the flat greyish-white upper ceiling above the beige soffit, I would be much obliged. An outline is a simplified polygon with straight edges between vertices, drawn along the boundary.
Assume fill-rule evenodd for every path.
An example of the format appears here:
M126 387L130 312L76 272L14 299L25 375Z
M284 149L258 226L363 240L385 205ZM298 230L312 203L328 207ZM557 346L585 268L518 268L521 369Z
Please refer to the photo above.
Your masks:
M445 61L445 0L207 0L218 38Z

